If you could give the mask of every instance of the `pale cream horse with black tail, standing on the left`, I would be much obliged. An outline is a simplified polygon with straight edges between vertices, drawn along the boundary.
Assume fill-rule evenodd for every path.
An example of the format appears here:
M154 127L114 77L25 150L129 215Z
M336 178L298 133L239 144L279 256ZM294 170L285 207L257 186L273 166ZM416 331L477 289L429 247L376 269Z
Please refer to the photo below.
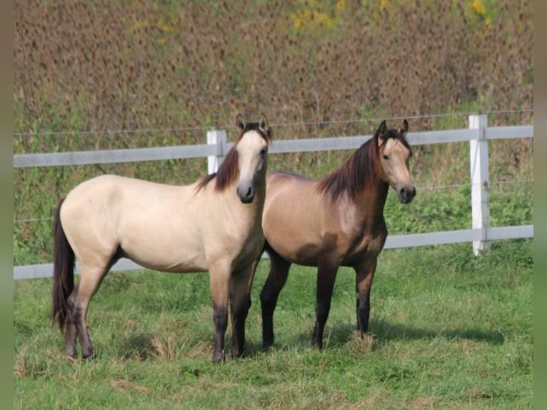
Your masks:
M65 329L65 350L93 353L89 301L122 256L149 269L209 271L216 328L213 360L224 359L230 304L232 355L241 356L255 264L264 246L261 227L271 130L266 116L245 124L216 174L187 186L104 175L76 186L54 219L51 319ZM75 256L80 277L74 287Z

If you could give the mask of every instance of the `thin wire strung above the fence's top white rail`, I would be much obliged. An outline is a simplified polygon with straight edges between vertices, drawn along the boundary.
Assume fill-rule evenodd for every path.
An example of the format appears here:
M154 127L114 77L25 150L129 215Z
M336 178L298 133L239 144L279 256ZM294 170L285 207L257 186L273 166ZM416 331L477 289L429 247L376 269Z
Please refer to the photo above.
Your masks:
M485 114L485 115L501 115L501 114L533 114L533 109L525 110L491 110L491 111L458 111L453 113L442 114L424 114L414 116L391 116L382 118L368 118L368 119L348 119L348 120L329 120L329 121L303 121L293 123L273 123L272 127L291 127L291 126L328 126L328 125L343 125L343 124L363 124L378 121L401 121L403 119L436 119L446 118L451 116L470 116L473 114ZM144 133L167 133L167 132L183 132L183 131L207 131L214 129L215 127L210 125L198 125L198 126L181 126L181 127L169 127L169 128L151 128L151 129L118 129L118 130L82 130L82 131L26 131L26 132L14 132L14 136L69 136L69 135L114 135L114 134L144 134ZM222 125L222 129L233 129L236 126L227 124Z

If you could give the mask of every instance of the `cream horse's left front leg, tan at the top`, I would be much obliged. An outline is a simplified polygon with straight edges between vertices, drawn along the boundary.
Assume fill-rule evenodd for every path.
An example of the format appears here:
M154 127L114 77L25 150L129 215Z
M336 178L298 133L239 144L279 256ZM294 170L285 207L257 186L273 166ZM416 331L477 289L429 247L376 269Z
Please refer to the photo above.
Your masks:
M228 284L230 278L229 264L216 264L209 269L209 286L213 301L213 323L215 341L213 361L224 361L224 335L228 326Z

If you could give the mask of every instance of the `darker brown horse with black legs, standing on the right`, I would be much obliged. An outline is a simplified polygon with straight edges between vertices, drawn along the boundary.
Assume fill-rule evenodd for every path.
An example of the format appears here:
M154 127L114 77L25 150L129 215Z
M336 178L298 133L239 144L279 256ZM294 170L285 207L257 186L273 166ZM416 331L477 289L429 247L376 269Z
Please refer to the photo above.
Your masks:
M416 194L407 130L406 120L398 130L383 121L372 139L321 181L284 172L266 176L262 227L271 270L260 295L264 346L273 344L273 311L291 264L317 266L315 346L323 346L338 266L356 271L357 326L361 336L366 333L372 279L388 233L383 207L389 186L403 204Z

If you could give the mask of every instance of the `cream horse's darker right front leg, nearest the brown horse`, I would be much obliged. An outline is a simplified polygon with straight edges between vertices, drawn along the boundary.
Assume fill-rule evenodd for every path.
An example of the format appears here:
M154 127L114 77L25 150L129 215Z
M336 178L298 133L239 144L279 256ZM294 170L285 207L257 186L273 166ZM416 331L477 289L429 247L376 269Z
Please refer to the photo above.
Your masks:
M235 272L230 278L229 300L232 324L231 353L234 357L241 357L245 349L245 321L251 308L251 286L253 284L257 259L241 271Z

